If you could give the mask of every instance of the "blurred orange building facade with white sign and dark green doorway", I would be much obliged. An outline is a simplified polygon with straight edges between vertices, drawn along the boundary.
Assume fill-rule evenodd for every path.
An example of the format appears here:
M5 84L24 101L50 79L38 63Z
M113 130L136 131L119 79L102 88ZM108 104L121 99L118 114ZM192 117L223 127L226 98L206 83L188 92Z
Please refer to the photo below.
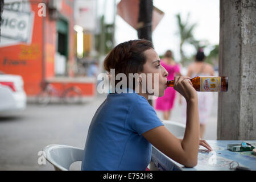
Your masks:
M76 85L93 97L95 78L77 78L73 0L5 0L0 42L0 71L20 75L28 97L44 81L57 88ZM61 78L61 79L60 79Z

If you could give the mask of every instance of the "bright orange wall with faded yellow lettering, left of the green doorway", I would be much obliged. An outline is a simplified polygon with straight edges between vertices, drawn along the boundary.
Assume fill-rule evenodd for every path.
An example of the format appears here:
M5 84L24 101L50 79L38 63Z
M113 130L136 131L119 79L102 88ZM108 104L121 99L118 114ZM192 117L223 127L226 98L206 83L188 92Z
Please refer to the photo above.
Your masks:
M31 10L35 13L31 44L21 43L0 48L0 71L21 75L28 95L40 91L39 82L42 80L42 17L37 14L37 5L31 3Z

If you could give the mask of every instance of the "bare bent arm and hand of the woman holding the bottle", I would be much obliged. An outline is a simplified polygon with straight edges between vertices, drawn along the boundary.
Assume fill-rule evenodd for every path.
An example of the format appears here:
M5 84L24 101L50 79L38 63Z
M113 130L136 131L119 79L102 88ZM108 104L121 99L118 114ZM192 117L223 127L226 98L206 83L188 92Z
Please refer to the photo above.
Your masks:
M183 140L176 138L164 126L143 133L143 137L171 159L187 167L197 165L199 150L199 113L197 93L188 77L175 77L175 90L187 101L187 124Z

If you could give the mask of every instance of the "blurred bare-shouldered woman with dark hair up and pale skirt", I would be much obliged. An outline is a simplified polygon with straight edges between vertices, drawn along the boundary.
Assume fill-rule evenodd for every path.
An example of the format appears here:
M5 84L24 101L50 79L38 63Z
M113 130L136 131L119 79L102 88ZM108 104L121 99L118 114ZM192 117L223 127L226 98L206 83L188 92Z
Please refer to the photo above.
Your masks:
M196 76L214 76L214 69L212 65L204 63L205 55L203 48L197 51L195 62L188 66L188 77ZM199 122L200 122L200 138L203 139L205 133L205 126L209 115L212 111L213 93L211 92L198 92L198 107L199 107Z

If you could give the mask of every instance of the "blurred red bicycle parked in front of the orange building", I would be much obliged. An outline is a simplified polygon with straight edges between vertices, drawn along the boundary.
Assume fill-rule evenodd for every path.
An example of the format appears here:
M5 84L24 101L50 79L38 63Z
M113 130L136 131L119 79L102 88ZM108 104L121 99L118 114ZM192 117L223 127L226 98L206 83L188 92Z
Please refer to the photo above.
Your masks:
M47 105L53 98L59 99L60 102L66 102L68 104L81 104L82 92L77 86L68 86L65 88L65 83L62 90L57 90L52 84L48 82L42 82L42 91L36 96L37 102L40 105Z

